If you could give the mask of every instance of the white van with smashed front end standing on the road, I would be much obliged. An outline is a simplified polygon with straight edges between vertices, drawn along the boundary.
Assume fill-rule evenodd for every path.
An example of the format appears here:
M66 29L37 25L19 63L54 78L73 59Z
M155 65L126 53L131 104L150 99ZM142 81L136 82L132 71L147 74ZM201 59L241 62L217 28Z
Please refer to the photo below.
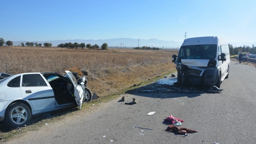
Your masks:
M176 64L179 83L215 85L228 78L230 57L228 43L217 36L188 38L184 40Z

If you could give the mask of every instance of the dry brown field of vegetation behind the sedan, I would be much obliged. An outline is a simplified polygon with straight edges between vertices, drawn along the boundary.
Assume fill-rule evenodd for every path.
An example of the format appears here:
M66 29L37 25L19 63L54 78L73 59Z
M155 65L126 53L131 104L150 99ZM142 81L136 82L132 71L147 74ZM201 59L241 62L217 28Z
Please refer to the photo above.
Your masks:
M163 50L74 50L64 48L0 47L0 72L89 70L88 86L99 96L175 70L172 54Z

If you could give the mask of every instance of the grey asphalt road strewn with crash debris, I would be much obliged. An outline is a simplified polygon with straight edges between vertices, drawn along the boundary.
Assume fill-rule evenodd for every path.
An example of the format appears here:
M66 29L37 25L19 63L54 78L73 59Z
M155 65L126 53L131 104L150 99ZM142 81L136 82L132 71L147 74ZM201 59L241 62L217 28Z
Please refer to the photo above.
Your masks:
M6 143L255 144L255 71L254 67L231 62L229 78L221 84L223 91L215 94L206 91L178 94L166 90L170 85L155 82L124 94L126 102L136 98L137 104L126 105L119 101L120 96L100 104L90 114L50 123ZM149 112L156 113L148 116ZM166 132L169 123L164 119L169 115L183 119L181 127L198 132L188 136Z

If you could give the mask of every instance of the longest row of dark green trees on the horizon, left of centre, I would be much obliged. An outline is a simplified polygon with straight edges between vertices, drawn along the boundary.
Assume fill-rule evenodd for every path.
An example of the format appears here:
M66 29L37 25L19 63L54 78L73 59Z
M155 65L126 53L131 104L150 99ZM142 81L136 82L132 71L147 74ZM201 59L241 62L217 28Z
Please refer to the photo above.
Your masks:
M98 48L100 48L100 46L98 45L98 44L94 44L94 45L92 45L92 44L85 44L85 43L81 43L81 44L78 44L77 42L75 42L74 44L72 43L72 42L69 42L69 43L65 43L65 44L58 44L58 46L57 47L59 47L59 48L82 48L82 49L84 49L85 47L86 48L88 48L88 49L98 49ZM108 49L108 44L107 43L104 43L104 44L102 44L102 46L101 46L101 49L102 50L106 50L106 49Z

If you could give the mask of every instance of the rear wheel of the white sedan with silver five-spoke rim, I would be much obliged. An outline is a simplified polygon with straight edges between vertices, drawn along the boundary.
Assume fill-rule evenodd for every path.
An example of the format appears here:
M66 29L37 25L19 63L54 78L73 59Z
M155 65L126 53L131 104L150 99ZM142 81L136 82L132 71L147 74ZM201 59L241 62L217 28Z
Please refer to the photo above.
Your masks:
M22 102L16 102L6 108L4 123L10 128L22 127L31 119L31 111Z

